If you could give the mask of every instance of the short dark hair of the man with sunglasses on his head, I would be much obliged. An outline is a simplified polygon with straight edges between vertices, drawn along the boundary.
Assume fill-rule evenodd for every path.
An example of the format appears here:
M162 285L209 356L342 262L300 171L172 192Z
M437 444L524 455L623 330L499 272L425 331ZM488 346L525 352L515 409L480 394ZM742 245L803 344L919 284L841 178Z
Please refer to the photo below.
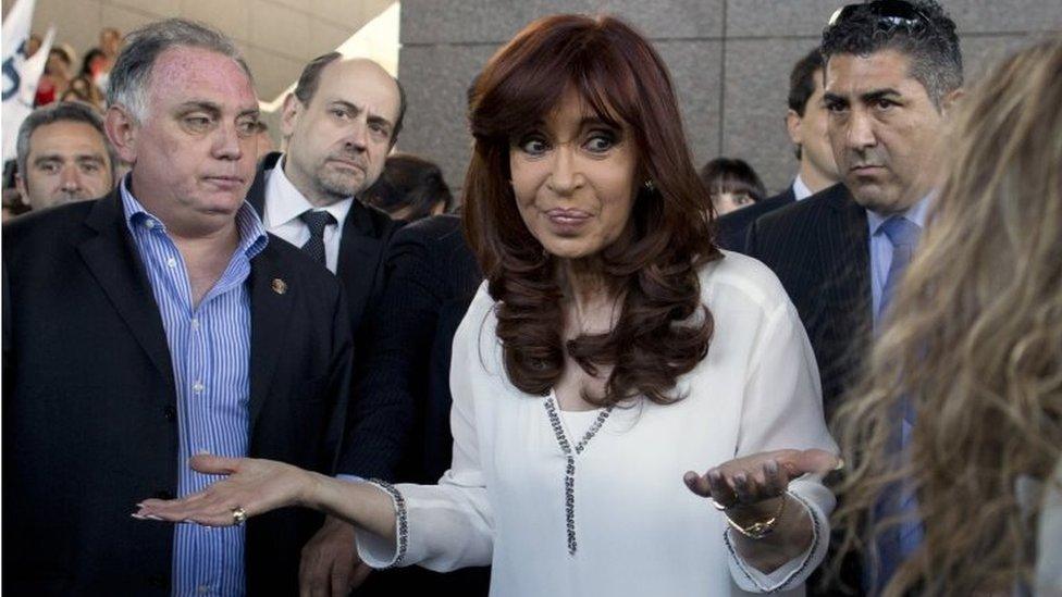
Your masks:
M902 52L911 59L911 76L939 109L943 97L963 84L955 22L935 0L912 0L918 18L910 23L882 18L868 4L823 32L826 63L836 54L869 55L886 49Z

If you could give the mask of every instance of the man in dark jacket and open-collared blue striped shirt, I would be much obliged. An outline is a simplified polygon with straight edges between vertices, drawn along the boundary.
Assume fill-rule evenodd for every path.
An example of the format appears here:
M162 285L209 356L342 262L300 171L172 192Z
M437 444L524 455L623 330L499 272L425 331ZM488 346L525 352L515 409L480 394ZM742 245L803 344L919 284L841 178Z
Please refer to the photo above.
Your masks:
M294 594L318 517L217 533L131 513L206 483L187 463L203 448L334 470L342 290L244 204L258 101L231 40L180 20L134 32L109 104L134 164L120 188L3 231L3 588Z

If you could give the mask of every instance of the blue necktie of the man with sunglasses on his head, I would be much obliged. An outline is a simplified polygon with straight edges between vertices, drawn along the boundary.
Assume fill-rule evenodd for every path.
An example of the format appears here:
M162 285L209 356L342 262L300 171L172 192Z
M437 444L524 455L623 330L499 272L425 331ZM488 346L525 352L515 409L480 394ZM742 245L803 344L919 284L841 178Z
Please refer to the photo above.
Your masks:
M889 275L885 281L885 288L881 290L878 320L888 312L896 289L900 286L903 273L911 263L911 257L918 244L922 228L903 216L894 215L881 224L881 232L892 244L892 263L889 265ZM891 452L897 464L900 464L906 459L905 447L914 426L914 409L909 400L901 401L897 419L899 425L891 445ZM923 530L917 520L917 507L914 493L902 482L887 488L875 507L875 520L900 518L902 522L889 527L876 539L879 562L876 571L876 586L873 593L881 592L889 579L896 574L900 564L922 543Z

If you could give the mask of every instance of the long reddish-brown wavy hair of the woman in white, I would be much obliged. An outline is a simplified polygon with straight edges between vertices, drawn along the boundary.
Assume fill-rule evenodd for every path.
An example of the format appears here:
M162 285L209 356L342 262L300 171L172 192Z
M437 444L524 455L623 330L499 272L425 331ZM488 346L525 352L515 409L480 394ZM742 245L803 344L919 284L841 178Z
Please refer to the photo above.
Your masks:
M520 217L509 183L513 139L575 89L597 117L626 125L641 181L627 228L601 253L621 299L606 334L564 340L564 282ZM555 15L528 25L490 60L470 92L476 139L465 181L465 232L498 301L497 336L516 387L545 395L565 351L584 371L612 365L598 406L634 396L674 401L676 378L701 361L713 322L697 268L721 257L703 211L706 192L690 159L667 67L638 33L609 17Z

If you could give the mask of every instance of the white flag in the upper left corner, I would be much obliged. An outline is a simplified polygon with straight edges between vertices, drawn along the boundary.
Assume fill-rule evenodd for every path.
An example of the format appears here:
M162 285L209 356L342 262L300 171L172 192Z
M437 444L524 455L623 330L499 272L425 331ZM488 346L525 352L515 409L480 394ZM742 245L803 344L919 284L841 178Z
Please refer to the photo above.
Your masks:
M15 158L18 126L33 112L37 83L45 72L55 28L49 27L40 49L26 58L35 0L16 0L3 22L3 161Z

